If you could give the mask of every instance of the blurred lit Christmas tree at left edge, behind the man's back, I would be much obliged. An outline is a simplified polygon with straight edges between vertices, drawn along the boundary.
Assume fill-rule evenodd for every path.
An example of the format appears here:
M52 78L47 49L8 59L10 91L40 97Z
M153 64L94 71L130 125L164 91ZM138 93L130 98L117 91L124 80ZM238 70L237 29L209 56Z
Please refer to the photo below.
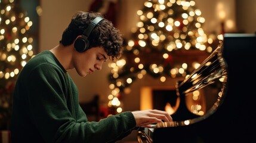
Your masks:
M8 129L12 94L22 67L33 57L32 21L18 1L0 1L0 129Z

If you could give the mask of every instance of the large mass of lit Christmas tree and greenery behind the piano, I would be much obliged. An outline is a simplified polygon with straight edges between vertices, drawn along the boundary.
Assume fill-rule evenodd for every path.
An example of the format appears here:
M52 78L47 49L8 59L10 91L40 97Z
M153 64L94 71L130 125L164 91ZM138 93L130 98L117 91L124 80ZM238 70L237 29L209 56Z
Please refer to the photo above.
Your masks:
M165 82L166 77L186 77L217 47L202 29L205 18L195 1L148 0L140 19L125 43L123 57L110 63L109 106L121 112L120 98L125 89L145 74ZM215 42L214 42L215 41Z

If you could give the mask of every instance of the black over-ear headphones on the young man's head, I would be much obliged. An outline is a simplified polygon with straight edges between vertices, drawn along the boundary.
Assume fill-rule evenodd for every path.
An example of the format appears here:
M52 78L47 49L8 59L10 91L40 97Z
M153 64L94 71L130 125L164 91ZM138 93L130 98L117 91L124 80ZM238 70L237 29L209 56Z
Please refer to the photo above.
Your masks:
M102 17L96 17L94 18L94 20L91 21L87 29L84 30L83 35L76 39L74 44L76 51L84 52L89 48L90 43L87 38L89 37L91 31L95 28L95 26L97 26L97 24L100 23L100 21L102 20L104 20Z

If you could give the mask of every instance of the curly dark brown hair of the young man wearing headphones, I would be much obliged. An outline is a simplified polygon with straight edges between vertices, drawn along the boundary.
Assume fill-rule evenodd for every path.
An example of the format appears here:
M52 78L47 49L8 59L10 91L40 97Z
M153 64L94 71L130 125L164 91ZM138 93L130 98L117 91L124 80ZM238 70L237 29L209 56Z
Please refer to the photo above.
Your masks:
M78 11L72 17L69 26L64 30L60 43L71 45L77 36L82 35L95 17L103 17L100 13ZM104 17L103 17L104 18ZM88 37L89 48L103 46L110 60L116 61L123 52L123 38L121 32L113 26L112 22L104 19L92 30Z

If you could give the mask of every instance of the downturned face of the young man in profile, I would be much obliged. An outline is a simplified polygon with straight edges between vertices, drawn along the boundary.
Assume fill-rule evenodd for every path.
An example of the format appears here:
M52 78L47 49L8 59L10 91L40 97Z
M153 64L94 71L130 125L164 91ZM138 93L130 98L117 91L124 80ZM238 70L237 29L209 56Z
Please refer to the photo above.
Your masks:
M86 76L95 70L101 70L103 63L109 58L101 46L87 49L85 52L75 52L73 64L79 76Z

